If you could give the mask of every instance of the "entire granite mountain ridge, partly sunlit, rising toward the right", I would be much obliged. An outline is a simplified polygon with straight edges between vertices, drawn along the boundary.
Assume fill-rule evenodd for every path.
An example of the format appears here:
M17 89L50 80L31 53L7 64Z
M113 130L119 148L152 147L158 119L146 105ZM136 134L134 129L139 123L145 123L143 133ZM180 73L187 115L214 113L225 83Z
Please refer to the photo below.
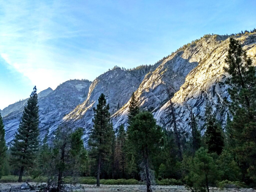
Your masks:
M174 103L179 128L189 130L189 115L192 109L199 125L204 124L206 103L211 103L217 119L225 124L228 109L224 98L229 98L227 86L223 84L226 74L224 59L229 46L228 35L207 35L183 46L175 53L159 60L150 67L124 70L114 67L97 77L93 82L67 81L39 101L40 131L49 134L62 123L71 128L84 128L87 141L92 128L93 107L101 93L106 95L114 130L127 123L127 111L132 92L140 102L142 110L151 111L158 124L172 129L169 95ZM256 34L238 35L243 48L256 59ZM11 115L13 114L13 115ZM20 113L5 116L7 141L18 127Z

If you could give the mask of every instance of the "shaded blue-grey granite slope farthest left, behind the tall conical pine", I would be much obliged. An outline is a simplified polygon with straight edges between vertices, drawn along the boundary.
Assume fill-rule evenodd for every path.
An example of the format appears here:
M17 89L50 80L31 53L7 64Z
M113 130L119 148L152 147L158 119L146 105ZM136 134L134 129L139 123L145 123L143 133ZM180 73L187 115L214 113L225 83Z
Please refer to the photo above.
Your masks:
M68 114L87 98L90 84L91 82L89 81L70 80L60 84L54 91L49 91L48 88L48 91L38 93L39 130L41 139L48 130L50 133L54 131L62 122L63 116ZM46 94L47 92L50 93ZM7 143L13 140L27 100L28 99L12 104L18 106L16 107L17 110L3 117ZM9 105L7 109L9 107L13 109L12 105Z

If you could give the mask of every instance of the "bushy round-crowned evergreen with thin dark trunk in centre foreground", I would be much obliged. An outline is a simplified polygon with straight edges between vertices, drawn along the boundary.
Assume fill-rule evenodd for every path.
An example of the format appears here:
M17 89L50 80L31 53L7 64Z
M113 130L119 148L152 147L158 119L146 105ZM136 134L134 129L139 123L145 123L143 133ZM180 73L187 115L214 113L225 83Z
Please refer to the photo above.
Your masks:
M147 192L151 189L151 166L152 156L160 150L162 146L162 129L156 124L152 113L140 112L130 122L127 131L128 141L131 143L135 151L140 154L142 160L142 172L145 174Z

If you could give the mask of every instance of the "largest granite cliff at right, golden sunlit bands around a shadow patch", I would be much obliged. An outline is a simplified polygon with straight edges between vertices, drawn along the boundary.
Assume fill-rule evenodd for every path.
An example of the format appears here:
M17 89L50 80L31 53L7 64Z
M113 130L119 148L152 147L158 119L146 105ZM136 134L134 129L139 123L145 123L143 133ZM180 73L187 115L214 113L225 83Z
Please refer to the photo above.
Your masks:
M256 35L242 35L239 39L255 64ZM165 59L154 71L148 73L136 91L143 110L150 110L157 122L166 129L172 129L170 102L163 85L172 90L176 120L180 129L189 131L190 109L197 117L199 126L204 124L205 106L211 104L217 120L226 123L228 108L223 99L228 98L227 86L223 84L226 75L223 67L229 46L228 36L211 36L201 39ZM114 128L127 122L129 102L112 115Z

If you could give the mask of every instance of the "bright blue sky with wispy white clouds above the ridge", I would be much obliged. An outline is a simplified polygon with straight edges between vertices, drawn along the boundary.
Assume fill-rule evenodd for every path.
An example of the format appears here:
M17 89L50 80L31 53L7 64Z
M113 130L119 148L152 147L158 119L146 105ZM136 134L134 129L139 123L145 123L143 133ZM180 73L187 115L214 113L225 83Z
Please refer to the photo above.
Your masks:
M255 0L0 0L0 109L115 65L154 64L204 34L256 27Z

